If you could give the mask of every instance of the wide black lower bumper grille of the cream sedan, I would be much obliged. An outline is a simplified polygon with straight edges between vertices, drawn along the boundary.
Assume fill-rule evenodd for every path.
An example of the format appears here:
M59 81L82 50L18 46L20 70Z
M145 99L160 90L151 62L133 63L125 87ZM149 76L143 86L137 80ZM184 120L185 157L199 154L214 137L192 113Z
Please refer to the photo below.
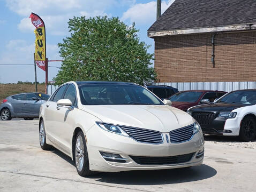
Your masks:
M130 156L134 162L140 165L169 165L177 163L186 163L191 160L194 153L185 155L176 155L169 157L141 157L141 156Z

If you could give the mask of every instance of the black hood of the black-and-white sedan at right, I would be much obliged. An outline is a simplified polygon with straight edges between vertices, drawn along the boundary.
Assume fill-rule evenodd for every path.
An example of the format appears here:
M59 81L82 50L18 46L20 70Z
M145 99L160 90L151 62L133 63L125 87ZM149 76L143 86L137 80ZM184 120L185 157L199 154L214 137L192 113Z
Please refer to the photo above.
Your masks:
M210 103L206 105L195 106L191 110L192 111L229 112L244 106L248 106L248 105L238 104L238 103Z

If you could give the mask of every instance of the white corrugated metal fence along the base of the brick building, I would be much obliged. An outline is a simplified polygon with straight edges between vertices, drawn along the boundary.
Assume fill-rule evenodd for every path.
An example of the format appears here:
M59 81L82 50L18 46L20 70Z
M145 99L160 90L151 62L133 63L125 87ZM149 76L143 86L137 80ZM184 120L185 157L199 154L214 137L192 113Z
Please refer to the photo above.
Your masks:
M235 91L242 89L256 89L256 82L187 82L187 83L156 83L156 85L169 85L179 91L186 90L219 90Z

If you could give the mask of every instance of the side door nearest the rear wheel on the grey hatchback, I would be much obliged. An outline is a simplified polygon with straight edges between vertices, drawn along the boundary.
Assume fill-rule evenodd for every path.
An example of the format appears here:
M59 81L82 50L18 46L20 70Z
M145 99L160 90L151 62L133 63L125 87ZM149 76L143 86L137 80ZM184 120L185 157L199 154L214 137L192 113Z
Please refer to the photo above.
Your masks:
M22 116L24 114L24 103L26 103L25 94L13 95L11 105L13 107L13 115Z

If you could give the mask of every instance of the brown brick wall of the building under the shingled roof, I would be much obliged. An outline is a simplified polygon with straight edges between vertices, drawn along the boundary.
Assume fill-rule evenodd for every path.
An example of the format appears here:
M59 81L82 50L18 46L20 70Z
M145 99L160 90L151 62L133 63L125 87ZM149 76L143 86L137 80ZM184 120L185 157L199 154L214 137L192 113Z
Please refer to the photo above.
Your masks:
M155 69L160 82L256 81L256 31L155 38Z

